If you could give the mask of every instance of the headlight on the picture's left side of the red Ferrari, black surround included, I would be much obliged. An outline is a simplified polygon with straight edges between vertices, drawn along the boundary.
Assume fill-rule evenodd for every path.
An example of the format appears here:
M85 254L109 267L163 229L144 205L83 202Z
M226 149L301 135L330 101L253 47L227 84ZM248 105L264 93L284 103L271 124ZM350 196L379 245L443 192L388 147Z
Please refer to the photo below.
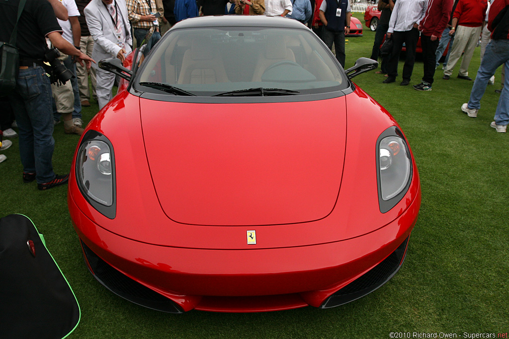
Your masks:
M115 166L113 147L96 131L81 140L76 157L76 180L81 194L106 217L115 218Z

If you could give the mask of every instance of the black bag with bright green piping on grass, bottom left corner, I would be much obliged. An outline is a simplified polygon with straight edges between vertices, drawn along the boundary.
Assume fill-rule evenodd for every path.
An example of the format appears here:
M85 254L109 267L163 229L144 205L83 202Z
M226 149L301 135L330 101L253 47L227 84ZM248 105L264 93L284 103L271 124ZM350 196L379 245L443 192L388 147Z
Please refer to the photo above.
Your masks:
M0 219L0 338L61 339L78 325L78 301L34 223Z

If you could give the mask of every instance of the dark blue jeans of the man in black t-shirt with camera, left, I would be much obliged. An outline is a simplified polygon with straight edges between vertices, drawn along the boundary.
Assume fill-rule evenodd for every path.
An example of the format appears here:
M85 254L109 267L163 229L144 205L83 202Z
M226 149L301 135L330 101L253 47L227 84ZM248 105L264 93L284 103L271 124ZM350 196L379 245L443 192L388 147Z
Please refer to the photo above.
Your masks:
M19 131L19 155L23 172L37 173L38 183L54 179L51 84L40 66L20 69L11 95Z

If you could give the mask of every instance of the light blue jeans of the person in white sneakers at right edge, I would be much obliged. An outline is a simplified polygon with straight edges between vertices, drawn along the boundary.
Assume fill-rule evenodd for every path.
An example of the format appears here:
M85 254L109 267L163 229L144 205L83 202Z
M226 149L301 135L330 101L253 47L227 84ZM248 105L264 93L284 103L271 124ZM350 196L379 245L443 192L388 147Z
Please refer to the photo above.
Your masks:
M497 68L503 64L505 64L505 73L509 74L509 40L491 40L486 46L486 52L477 71L468 108L480 108L480 99L483 98L488 81L495 74ZM497 125L506 126L509 124L509 77L505 77L504 88L502 88L498 100L494 120Z

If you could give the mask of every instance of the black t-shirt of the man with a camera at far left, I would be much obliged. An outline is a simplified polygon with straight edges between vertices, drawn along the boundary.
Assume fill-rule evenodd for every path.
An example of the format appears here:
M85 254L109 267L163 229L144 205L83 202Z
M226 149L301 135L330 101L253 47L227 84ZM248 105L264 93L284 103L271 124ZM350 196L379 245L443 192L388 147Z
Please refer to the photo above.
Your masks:
M18 16L19 0L0 1L0 41L9 42ZM18 22L16 47L20 57L43 59L45 37L51 32L62 32L53 8L46 0L26 0Z

